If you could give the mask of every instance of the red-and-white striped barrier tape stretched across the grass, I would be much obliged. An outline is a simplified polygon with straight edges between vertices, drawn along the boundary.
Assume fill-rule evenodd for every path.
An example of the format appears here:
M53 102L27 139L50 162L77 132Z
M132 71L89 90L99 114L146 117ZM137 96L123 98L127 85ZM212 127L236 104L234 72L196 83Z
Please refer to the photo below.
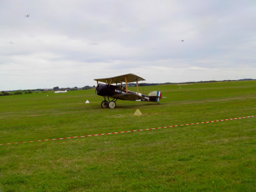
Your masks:
M202 124L202 123L212 123L212 122L219 122L219 121L228 121L228 120L243 119L243 118L249 118L249 117L255 117L255 115L254 115L254 116L248 116L248 117L240 117L240 118L216 120L216 121L206 121L206 122L200 122L200 123L190 123L190 124L183 124L183 125L173 125L173 126L167 126L167 127L149 128L149 129L139 129L139 130L132 130L132 131L122 131L122 132L104 133L104 134L95 134L95 135L84 135L84 136L76 136L76 137L64 137L64 138L57 138L57 139L45 139L45 140L36 140L36 141L24 141L24 142L6 143L6 144L0 144L0 145L10 145L10 144L18 144L18 143L30 143L30 142L38 142L38 141L51 141L51 140L61 140L61 139L71 139L71 138L90 137L90 136L100 136L100 135L109 135L109 134L117 134L117 133L127 133L127 132L135 132L135 131L144 131L144 130L153 130L153 129L162 129L162 128L178 127L178 126L185 126L185 125L196 125L196 124Z

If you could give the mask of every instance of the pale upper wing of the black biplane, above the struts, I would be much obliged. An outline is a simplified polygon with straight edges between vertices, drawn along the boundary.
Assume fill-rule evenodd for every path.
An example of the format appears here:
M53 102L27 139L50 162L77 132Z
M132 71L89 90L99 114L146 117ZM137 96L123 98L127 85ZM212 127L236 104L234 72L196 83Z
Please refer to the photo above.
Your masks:
M145 79L134 75L132 73L126 74L126 75L120 75L120 76L116 76L116 77L110 77L110 78L101 78L101 79L94 79L95 81L99 81L99 82L104 82L107 84L112 84L112 83L122 83L125 82L125 77L127 78L127 83L131 83L131 82L136 82L137 81L143 81Z

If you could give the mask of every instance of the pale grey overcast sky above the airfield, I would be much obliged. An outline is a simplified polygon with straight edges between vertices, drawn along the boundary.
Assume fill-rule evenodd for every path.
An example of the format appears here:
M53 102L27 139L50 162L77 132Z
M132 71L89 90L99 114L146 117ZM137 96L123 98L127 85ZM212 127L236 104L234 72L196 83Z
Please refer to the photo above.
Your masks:
M256 0L0 0L0 15L0 90L256 78Z

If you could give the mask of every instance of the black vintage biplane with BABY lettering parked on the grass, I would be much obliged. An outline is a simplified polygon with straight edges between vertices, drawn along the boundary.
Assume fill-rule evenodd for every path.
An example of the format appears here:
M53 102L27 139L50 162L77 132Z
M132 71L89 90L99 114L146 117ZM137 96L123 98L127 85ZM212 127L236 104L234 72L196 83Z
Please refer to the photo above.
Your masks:
M160 91L153 91L150 92L148 95L144 95L139 93L138 88L138 82L143 81L145 79L134 75L132 73L116 76L116 77L110 77L110 78L101 78L101 79L94 79L97 81L97 87L95 90L95 93L99 96L103 96L104 100L101 103L102 108L115 108L116 107L116 101L119 100L129 100L129 101L148 101L148 102L156 102L162 97L162 94ZM99 83L103 82L105 84ZM126 86L122 87L123 82L125 82ZM136 82L137 86L137 92L128 90L128 83ZM116 85L112 85L116 84ZM118 84L120 84L118 86ZM112 100L111 100L111 99Z

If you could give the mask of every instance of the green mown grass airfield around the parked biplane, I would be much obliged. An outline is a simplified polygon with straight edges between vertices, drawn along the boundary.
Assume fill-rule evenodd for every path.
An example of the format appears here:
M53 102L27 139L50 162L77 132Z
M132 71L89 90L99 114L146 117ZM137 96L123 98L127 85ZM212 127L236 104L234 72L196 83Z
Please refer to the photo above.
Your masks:
M1 96L0 144L256 115L255 81L139 88L154 90L168 98L159 105L118 100L115 109L101 108L94 90ZM0 145L1 190L256 191L256 117Z

